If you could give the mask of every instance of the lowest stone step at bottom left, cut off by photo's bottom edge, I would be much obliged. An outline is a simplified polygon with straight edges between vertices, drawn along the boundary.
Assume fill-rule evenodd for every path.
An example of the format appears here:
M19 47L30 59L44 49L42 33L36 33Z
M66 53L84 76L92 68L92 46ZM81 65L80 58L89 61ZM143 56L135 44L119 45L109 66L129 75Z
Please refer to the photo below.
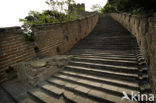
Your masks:
M65 103L63 99L54 98L41 90L32 90L29 91L29 94L44 103Z

